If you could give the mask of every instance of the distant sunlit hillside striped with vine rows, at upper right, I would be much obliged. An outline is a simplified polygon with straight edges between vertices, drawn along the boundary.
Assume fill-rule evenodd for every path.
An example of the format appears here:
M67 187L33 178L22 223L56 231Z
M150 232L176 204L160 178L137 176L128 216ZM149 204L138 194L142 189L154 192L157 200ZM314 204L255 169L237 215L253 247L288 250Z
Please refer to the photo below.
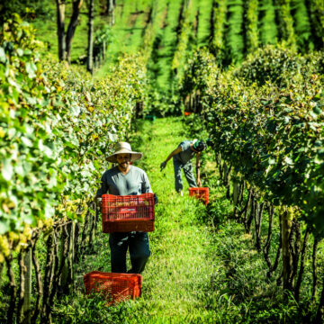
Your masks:
M301 53L323 48L323 4L318 0L157 1L140 9L142 15L151 13L148 29L153 31L148 76L157 90L149 94L148 106L162 116L180 112L177 88L194 48L210 49L223 67L269 44Z

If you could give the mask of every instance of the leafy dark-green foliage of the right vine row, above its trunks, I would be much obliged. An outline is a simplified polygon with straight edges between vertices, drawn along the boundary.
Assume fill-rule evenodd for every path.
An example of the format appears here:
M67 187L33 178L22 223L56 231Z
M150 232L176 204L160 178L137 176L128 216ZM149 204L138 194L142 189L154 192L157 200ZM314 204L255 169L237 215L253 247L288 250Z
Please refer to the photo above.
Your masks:
M221 156L266 199L297 206L321 231L322 54L300 58L284 49L260 49L223 74L210 59L198 52L195 74L188 70L193 88L209 103L202 113Z

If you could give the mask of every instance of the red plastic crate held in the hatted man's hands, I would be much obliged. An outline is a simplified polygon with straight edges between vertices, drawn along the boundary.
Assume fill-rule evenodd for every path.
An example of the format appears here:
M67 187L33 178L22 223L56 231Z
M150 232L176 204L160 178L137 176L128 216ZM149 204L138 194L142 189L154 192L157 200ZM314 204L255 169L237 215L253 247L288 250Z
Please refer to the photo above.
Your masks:
M154 195L102 195L103 233L154 230Z

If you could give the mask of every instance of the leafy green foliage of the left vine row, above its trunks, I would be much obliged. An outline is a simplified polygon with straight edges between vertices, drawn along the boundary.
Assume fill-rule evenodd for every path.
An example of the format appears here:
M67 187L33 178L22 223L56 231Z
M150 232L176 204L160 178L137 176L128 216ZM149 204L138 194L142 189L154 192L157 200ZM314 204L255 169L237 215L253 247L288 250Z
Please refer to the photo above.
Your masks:
M124 58L112 75L92 82L81 70L40 61L31 27L18 16L1 36L0 233L55 214L80 219L73 202L85 205L94 194L102 170L95 156L125 137L141 100L140 61Z

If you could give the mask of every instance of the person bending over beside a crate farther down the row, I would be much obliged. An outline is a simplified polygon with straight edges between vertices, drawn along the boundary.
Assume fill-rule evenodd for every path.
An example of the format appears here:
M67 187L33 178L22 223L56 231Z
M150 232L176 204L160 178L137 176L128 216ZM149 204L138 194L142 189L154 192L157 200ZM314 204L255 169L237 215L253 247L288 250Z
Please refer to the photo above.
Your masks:
M184 169L184 176L190 187L202 186L200 179L200 156L202 151L206 148L206 144L202 140L184 140L175 150L173 150L166 160L160 165L161 171L166 167L167 161L173 157L175 169L175 190L183 195L183 182L181 176L181 169ZM197 183L193 175L193 165L191 159L196 155L196 174Z

